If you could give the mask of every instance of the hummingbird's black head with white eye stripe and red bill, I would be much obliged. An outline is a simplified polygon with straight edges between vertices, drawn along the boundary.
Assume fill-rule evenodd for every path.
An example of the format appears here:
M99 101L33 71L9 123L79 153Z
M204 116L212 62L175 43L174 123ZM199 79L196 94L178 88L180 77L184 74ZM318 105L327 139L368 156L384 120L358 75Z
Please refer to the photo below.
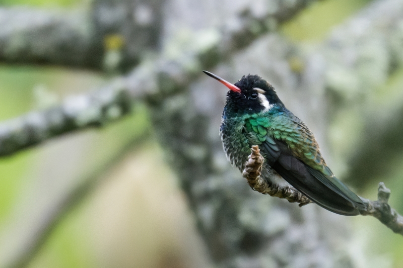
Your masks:
M253 114L270 110L275 106L284 107L274 87L258 75L244 75L238 82L232 84L211 72L203 72L230 89L227 93L226 109L232 113Z

